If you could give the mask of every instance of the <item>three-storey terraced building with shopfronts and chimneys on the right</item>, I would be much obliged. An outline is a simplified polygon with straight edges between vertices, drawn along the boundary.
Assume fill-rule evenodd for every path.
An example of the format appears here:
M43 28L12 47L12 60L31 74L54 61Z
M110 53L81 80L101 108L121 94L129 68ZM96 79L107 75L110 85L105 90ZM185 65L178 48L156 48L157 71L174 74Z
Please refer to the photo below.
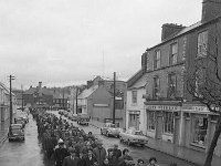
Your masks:
M146 135L177 146L207 152L217 123L187 90L187 77L207 50L214 52L214 35L221 34L221 0L203 0L201 21L183 27L162 25L161 42L143 55L146 69ZM221 46L220 41L217 43ZM220 49L218 50L220 54ZM208 64L210 66L210 64ZM215 155L221 156L221 137Z

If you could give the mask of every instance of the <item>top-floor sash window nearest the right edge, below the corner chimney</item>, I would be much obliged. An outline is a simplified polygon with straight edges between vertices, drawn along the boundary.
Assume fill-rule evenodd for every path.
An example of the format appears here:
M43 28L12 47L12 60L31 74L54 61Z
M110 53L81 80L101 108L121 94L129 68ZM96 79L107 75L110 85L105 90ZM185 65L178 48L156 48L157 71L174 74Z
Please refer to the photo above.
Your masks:
M208 31L198 34L198 56L207 56Z

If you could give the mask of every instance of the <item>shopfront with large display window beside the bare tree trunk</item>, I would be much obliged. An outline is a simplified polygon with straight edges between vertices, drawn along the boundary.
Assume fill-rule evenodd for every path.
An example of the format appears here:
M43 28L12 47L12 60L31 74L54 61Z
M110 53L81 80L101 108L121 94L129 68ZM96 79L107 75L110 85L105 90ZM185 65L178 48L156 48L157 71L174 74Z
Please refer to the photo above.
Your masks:
M207 106L183 104L183 135L182 145L196 151L207 153L213 133L218 115L209 112ZM221 137L218 139L218 144L214 154L221 156Z

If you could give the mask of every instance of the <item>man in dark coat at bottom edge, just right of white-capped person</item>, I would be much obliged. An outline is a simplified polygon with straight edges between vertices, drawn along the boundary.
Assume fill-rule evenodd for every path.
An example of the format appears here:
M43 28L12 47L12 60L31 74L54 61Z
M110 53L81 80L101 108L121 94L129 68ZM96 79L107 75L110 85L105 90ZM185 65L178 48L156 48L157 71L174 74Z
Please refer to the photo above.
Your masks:
M70 156L64 158L62 166L80 166L80 158L76 156L76 151L70 148Z

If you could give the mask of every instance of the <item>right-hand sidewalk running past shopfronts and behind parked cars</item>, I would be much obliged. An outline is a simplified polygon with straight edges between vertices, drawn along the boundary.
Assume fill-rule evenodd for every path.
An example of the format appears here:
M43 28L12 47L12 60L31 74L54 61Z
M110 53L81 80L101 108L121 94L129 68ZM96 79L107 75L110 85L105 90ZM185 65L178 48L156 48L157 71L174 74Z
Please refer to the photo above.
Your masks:
M92 120L90 122L90 125L101 128L104 125L104 123ZM190 149L187 147L176 146L171 143L161 142L154 138L149 138L147 147L197 164L199 166L202 166L206 159L204 153ZM220 165L221 165L221 157L213 156L212 166L220 166Z

